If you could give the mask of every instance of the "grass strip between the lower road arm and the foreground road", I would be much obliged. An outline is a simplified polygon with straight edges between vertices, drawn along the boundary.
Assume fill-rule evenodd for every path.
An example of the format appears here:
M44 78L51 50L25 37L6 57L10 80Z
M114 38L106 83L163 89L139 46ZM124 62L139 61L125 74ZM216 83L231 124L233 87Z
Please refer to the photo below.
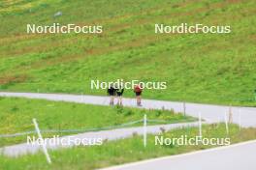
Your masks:
M198 135L198 128L178 128L171 131L165 131L159 136L180 137L187 135L188 138ZM224 124L204 125L204 138L225 138L230 137L231 143L256 139L256 128L239 128L236 125L230 125L229 136L226 135ZM118 165L128 162L155 158L160 156L173 156L183 153L189 153L199 150L205 150L216 146L201 145L155 145L154 135L150 134L147 138L147 147L144 149L143 137L134 135L131 138L106 141L101 146L75 147L72 149L61 149L50 151L49 155L52 164L48 165L46 157L42 154L33 156L19 156L16 158L0 156L0 169L54 169L54 170L89 170L112 165Z

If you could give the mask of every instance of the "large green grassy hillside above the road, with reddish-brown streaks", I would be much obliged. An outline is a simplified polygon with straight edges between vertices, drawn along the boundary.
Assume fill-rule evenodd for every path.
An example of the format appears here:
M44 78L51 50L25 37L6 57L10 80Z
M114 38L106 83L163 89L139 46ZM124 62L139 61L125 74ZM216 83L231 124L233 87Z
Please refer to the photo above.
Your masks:
M255 13L254 0L4 0L0 90L105 95L90 90L91 79L123 78L167 81L167 90L145 90L148 99L256 105ZM104 33L26 34L27 23L53 22L100 24ZM154 34L155 23L183 22L232 33Z

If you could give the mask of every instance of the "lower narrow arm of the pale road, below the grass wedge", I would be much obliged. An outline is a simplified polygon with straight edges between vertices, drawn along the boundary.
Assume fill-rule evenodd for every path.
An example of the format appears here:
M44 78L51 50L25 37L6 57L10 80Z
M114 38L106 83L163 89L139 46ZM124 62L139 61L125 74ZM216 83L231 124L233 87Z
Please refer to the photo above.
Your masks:
M182 128L182 127L195 127L198 126L198 123L180 123L180 124L171 124L171 125L158 125L158 126L148 126L146 128L147 133L157 134L161 132L160 128L165 128L167 130L173 129L173 128ZM102 131L93 131L93 132L85 132L80 133L76 135L69 135L69 136L63 136L61 138L76 138L76 140L84 140L84 139L97 139L102 138L102 140L108 139L108 140L116 140L121 138L127 138L135 133L139 135L143 135L144 128L118 128L118 129L112 129L112 130L102 130ZM32 137L32 136L31 136ZM142 143L143 145L143 143ZM48 149L58 149L61 147L72 147L74 144L71 145L57 145L48 143L47 148ZM0 148L0 154L3 154L5 156L21 156L26 154L35 154L38 151L42 149L42 146L40 145L32 145L32 144L18 144L14 146L8 146L5 148Z

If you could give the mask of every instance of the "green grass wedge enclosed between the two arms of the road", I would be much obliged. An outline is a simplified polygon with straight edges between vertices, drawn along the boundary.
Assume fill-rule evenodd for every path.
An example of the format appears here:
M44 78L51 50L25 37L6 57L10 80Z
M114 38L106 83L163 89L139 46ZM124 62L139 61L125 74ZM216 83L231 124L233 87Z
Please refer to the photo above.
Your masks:
M108 101L107 101L108 102ZM41 129L80 129L100 130L102 128L129 128L143 126L143 123L127 125L129 122L143 120L166 121L156 124L174 124L196 121L196 118L183 116L169 110L146 110L130 107L110 107L79 104L43 99L0 98L0 134L14 134L35 130L32 119L36 118ZM93 129L92 129L93 128ZM96 129L94 129L96 128ZM74 132L44 133L44 136L74 134ZM0 147L26 141L26 136L0 137Z

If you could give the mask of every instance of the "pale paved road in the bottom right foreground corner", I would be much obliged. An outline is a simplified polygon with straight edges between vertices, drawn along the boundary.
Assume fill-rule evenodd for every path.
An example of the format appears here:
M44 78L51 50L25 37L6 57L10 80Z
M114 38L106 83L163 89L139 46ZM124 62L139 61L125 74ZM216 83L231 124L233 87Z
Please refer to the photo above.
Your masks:
M102 170L255 170L256 140L178 156L166 156Z

